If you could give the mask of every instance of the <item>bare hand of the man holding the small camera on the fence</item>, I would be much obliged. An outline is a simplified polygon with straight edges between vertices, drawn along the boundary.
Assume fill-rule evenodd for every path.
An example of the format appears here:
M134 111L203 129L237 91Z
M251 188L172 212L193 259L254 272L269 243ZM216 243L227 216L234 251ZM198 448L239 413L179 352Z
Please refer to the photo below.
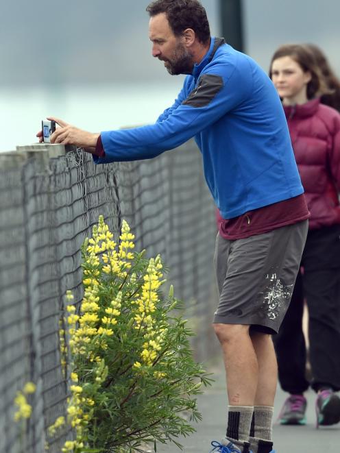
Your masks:
M97 144L99 134L93 134L84 130L78 129L71 124L65 123L62 119L48 117L50 121L56 121L60 126L51 135L51 143L62 143L62 145L75 145L83 148L94 148ZM42 132L38 132L36 136L39 142L42 142Z

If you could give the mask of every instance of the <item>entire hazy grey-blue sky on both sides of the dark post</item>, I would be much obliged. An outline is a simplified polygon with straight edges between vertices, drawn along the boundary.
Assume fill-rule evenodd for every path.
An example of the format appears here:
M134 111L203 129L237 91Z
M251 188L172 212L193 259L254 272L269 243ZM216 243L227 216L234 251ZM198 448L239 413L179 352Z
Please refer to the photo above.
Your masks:
M228 0L223 0L228 1ZM152 82L169 75L151 57L149 0L1 3L0 87ZM219 0L203 0L219 35ZM340 1L243 0L245 51L265 70L283 42L320 45L340 73Z

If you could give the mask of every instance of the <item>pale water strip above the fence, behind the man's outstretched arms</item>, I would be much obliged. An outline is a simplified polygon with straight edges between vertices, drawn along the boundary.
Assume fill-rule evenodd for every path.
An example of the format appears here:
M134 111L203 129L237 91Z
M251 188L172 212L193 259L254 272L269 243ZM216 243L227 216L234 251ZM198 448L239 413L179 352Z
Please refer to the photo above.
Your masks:
M0 151L36 143L41 120L58 117L90 132L154 123L183 78L162 84L0 88Z

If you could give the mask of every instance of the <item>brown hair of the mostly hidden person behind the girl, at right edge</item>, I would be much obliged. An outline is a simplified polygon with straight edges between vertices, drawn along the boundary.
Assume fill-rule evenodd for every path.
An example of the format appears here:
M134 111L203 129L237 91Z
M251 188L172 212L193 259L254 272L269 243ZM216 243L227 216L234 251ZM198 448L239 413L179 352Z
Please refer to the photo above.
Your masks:
M319 47L310 43L305 46L313 53L315 62L328 86L329 93L321 96L321 102L340 112L340 80L333 72L324 52Z

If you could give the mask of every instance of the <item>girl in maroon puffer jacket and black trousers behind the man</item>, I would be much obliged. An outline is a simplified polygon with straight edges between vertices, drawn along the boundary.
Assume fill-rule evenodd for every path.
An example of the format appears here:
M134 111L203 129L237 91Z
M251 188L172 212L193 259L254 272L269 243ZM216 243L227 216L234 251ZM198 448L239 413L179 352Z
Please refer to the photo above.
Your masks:
M282 99L291 142L311 212L306 247L291 304L274 338L281 387L290 393L281 424L305 424L309 387L303 302L309 313L312 388L317 392L317 426L340 421L340 114L320 103L330 94L311 49L284 45L269 73Z

